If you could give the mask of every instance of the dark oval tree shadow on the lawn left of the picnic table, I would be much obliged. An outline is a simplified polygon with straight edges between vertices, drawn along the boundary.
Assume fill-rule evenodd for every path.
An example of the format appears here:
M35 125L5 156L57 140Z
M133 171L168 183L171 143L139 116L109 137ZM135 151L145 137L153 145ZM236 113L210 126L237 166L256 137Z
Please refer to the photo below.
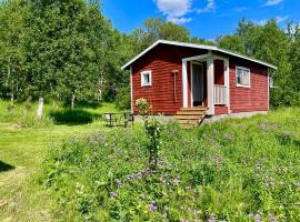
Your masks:
M88 124L101 118L100 114L91 113L81 109L56 110L49 113L54 124Z

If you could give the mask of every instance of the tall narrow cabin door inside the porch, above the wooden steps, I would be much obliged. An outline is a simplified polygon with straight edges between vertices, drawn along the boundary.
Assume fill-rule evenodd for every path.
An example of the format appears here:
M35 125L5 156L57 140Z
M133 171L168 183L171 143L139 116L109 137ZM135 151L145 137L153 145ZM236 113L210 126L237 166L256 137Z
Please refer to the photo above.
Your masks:
M192 63L192 107L202 105L203 102L203 69L200 63Z

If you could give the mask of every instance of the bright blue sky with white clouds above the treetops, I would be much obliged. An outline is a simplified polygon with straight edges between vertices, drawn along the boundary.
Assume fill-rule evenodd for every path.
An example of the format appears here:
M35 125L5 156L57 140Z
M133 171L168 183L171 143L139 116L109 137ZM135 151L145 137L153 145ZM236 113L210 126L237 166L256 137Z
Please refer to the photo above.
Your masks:
M191 36L213 40L232 34L241 18L263 24L274 18L280 27L300 21L300 0L102 0L102 11L114 28L130 33L148 18L183 26Z

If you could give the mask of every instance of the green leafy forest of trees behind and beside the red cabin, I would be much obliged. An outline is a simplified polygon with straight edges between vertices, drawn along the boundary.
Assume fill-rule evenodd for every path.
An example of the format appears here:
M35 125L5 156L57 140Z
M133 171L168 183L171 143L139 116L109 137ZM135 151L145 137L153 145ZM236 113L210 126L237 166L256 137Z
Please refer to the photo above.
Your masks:
M272 107L300 104L300 29L274 19L257 24L241 19L234 33L214 41L192 37L184 27L147 19L132 33L112 27L102 2L9 0L0 6L0 98L60 101L73 109L103 101L130 108L129 73L121 65L158 39L214 44L278 67L272 73Z

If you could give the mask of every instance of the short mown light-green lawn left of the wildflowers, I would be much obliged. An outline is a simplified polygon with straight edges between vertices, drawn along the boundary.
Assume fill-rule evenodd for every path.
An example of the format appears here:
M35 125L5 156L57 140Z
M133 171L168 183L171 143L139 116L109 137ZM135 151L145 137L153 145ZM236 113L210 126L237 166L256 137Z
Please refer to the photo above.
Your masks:
M52 204L51 198L34 181L47 149L68 138L104 129L101 120L88 124L82 121L54 124L49 113L63 110L47 104L44 111L46 118L36 123L36 104L28 110L24 104L16 104L11 110L8 102L0 101L0 221L51 219L46 206ZM99 115L118 110L106 103L83 111Z

